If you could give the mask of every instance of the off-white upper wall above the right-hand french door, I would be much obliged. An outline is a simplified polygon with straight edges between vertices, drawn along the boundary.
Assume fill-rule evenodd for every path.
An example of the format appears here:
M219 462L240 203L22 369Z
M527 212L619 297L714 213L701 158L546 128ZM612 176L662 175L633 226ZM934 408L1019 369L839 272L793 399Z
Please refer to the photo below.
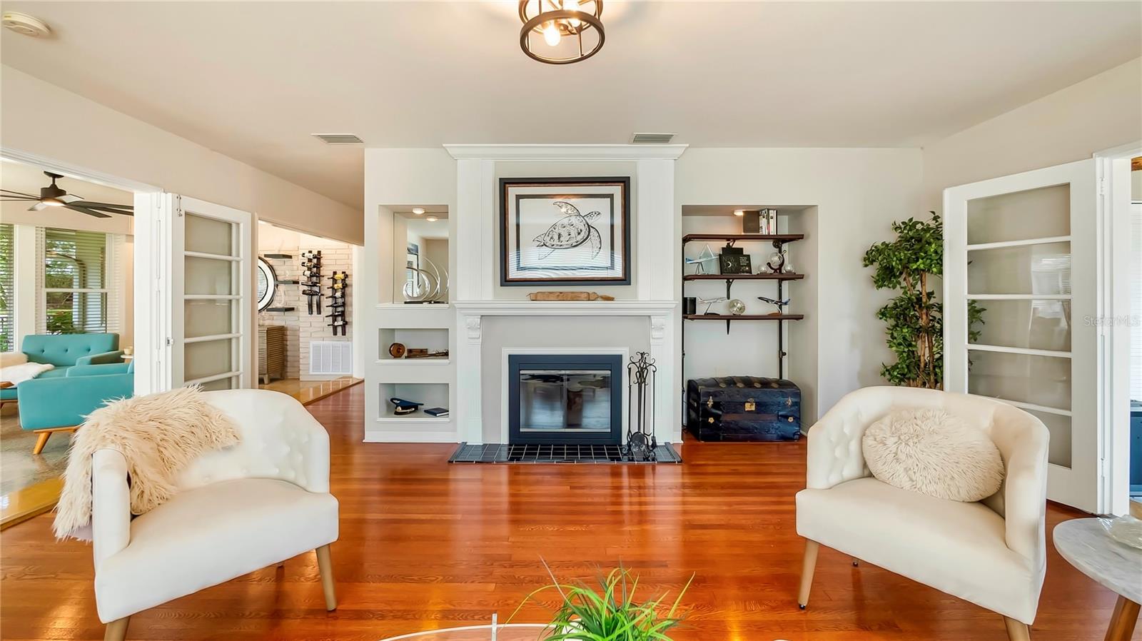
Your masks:
M947 187L1091 158L1142 139L1142 58L924 147L924 209Z

